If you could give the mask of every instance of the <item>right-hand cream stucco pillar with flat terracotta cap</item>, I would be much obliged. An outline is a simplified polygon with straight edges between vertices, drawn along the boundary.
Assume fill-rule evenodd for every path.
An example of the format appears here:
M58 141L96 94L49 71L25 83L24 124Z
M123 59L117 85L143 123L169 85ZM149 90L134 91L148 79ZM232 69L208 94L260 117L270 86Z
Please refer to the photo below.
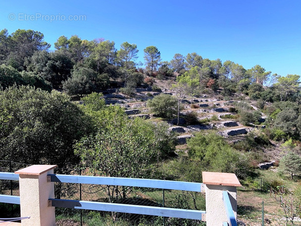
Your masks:
M206 184L206 226L222 226L227 222L223 191L228 191L235 218L237 217L236 187L241 186L234 173L202 172Z

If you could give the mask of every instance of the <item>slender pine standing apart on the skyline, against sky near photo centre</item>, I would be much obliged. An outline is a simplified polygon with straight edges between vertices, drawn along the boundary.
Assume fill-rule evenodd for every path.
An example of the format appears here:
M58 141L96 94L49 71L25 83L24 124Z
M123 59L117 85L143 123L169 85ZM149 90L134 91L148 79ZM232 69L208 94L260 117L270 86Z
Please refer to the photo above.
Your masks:
M148 46L144 49L144 59L147 69L151 72L156 71L161 61L161 54L155 46Z

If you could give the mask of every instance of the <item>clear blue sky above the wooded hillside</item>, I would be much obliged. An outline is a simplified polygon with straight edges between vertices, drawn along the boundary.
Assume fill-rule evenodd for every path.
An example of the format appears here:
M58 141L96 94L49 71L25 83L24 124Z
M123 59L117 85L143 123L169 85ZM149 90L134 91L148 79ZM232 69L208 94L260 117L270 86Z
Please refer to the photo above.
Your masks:
M163 60L196 52L203 58L232 60L246 69L260 64L283 76L301 75L300 0L42 2L2 0L0 29L40 31L51 48L62 35L104 38L114 41L117 49L127 41L137 44L142 62L143 50L156 46ZM25 14L41 18L25 20ZM58 19L50 22L50 15ZM62 20L69 15L85 15L86 20Z

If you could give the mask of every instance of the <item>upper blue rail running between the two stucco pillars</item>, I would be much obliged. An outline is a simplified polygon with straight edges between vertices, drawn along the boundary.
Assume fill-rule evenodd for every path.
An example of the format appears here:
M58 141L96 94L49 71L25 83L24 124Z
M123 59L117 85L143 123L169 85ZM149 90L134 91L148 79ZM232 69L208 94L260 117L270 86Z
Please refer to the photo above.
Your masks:
M106 177L106 176L78 176L78 175L62 175L48 174L51 182L64 183L82 183L82 184L102 184L102 185L118 185L130 187L150 187L182 191L201 192L202 183L173 181L173 180L154 180L154 179L138 179L124 177Z

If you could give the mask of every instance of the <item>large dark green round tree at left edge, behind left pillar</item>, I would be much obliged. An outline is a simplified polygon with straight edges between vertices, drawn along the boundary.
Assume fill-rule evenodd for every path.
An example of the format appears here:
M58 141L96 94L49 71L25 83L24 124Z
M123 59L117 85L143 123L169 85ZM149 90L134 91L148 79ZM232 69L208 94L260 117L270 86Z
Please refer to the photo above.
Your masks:
M72 145L89 121L65 94L29 86L0 91L0 159L72 168L79 159ZM6 119L9 118L9 120Z

